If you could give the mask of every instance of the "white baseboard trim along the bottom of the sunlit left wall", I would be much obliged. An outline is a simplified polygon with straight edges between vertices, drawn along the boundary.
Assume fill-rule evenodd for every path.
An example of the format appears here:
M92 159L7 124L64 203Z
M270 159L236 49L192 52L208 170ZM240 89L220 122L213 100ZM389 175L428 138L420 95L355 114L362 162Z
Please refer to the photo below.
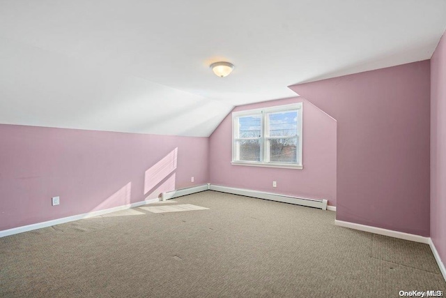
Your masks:
M57 219L53 219L51 221L44 221L42 223L33 223L31 225L23 225L22 227L17 227L17 228L0 231L0 238L10 236L13 234L19 234L22 232L28 232L28 231L32 231L32 230L41 229L41 228L51 227L52 225L60 225L61 223L69 223L70 221L79 221L79 219L82 219L82 218L90 218L93 216L100 216L100 215L109 214L109 213L116 212L116 211L121 211L124 209L139 207L139 206L142 206L145 204L150 204L153 202L159 202L159 201L160 200L158 198L151 199L151 200L144 200L141 202L125 204L122 206L113 207L113 208L109 208L109 209L98 210L98 211L88 212L88 213L84 213L84 214L77 214L77 215L63 217L63 218L57 218Z

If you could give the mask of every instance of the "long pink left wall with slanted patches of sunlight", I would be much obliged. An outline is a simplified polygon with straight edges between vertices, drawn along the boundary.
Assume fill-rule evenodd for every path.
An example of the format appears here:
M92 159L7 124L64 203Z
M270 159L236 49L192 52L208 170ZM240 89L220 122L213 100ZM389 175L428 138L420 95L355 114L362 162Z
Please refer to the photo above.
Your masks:
M0 140L0 230L209 180L207 137L0 125Z

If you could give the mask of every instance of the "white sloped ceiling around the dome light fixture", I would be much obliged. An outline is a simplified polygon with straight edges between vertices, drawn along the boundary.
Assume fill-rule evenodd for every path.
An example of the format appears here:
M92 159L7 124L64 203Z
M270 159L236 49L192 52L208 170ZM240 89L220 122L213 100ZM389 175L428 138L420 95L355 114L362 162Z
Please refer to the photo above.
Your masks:
M207 136L291 84L429 59L445 27L446 0L0 0L0 123Z

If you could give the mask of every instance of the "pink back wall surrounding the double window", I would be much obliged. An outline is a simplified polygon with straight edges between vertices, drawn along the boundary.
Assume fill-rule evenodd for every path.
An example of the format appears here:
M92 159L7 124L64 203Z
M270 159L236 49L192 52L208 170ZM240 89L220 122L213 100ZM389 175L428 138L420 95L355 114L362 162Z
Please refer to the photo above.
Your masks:
M240 110L303 102L303 170L231 165L232 115L210 135L212 184L306 198L336 205L336 121L303 98L287 98L236 107ZM277 188L272 187L277 181Z

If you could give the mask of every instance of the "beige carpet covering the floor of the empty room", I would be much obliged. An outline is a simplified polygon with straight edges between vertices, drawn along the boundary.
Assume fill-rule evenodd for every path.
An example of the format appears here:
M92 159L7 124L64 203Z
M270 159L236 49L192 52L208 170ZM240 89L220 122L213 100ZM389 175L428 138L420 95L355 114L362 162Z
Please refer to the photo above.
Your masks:
M399 297L443 290L426 244L206 191L0 239L0 297ZM153 204L160 205L160 204ZM146 206L147 207L147 206Z

